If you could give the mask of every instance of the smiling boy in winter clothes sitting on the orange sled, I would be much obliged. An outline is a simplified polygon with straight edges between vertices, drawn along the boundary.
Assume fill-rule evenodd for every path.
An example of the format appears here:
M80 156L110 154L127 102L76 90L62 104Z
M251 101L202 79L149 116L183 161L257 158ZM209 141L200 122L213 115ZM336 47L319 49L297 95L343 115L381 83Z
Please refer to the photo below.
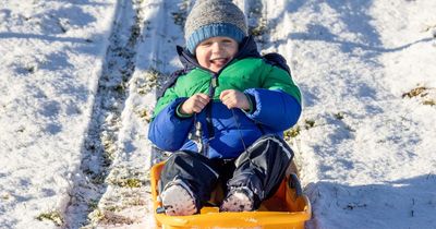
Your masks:
M217 183L221 212L257 209L293 157L282 132L300 117L300 91L283 59L259 56L230 0L197 1L185 40L185 68L158 99L148 133L173 152L161 172L166 214L198 213Z

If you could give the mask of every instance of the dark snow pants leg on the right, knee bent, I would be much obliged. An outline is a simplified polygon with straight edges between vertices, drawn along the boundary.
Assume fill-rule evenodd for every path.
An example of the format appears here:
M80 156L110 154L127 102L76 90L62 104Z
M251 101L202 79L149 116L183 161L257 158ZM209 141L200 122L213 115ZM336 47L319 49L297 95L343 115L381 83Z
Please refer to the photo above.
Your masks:
M227 182L228 191L249 188L254 193L254 207L258 208L263 200L275 194L292 158L292 149L281 137L261 137L235 160L233 177Z

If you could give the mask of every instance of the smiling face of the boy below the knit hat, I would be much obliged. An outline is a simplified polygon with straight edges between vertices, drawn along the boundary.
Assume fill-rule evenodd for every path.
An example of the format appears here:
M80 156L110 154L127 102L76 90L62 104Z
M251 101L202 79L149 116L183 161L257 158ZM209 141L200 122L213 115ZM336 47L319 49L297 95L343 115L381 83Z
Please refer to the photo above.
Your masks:
M199 65L218 72L238 52L238 43L230 37L210 37L195 48Z

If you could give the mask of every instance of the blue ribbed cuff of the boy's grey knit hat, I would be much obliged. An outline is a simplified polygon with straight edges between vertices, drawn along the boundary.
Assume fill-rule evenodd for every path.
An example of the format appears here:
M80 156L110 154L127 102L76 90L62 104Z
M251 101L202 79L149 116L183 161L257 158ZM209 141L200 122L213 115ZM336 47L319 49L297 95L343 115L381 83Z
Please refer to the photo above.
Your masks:
M194 31L186 39L187 50L195 55L195 48L199 43L210 37L230 37L237 43L241 43L245 33L238 26L230 23L215 23L202 26Z

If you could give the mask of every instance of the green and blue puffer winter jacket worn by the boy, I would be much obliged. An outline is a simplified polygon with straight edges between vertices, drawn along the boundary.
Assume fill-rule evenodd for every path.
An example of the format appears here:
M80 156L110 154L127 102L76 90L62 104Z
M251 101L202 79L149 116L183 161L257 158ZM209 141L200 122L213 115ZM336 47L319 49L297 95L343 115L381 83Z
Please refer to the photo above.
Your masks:
M178 51L185 73L158 99L149 124L148 137L158 148L199 152L208 158L237 158L262 135L282 135L296 123L301 113L299 88L290 73L278 67L286 63L271 64L262 58L252 37L242 41L233 60L218 73L202 68L180 47ZM247 95L252 112L228 109L219 100L225 89ZM178 107L196 93L209 94L213 99L202 112L179 117ZM201 136L195 137L195 133ZM201 142L203 148L195 142Z

